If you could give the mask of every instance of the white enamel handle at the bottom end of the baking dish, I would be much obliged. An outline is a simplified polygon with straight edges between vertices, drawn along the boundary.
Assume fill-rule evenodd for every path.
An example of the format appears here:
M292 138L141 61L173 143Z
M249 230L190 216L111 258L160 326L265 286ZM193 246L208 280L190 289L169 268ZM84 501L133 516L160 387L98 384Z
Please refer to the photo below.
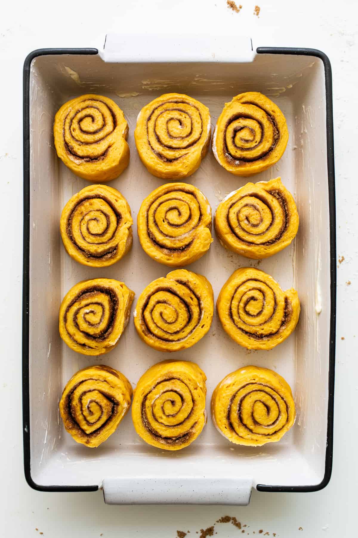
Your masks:
M222 477L106 478L106 504L222 504L248 505L252 480Z

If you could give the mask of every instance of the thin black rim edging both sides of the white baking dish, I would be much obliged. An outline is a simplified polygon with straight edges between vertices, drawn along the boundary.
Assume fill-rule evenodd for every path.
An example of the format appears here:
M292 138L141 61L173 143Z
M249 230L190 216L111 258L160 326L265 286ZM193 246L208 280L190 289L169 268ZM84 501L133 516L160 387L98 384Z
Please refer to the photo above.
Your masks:
M330 320L330 357L328 373L328 413L325 473L322 482L308 486L280 486L258 484L258 491L268 492L312 492L322 490L330 481L333 458L333 403L334 403L334 363L335 363L335 316L337 254L335 241L335 181L333 151L333 104L332 69L326 54L313 48L258 47L258 54L292 54L316 56L322 60L326 85L326 131L327 131L327 170L328 201L330 211L330 248L331 248L331 320ZM30 302L30 67L38 56L59 54L98 54L97 48L41 48L28 54L24 62L23 74L23 115L24 115L24 243L23 243L23 436L24 470L26 482L38 491L97 491L93 486L43 486L36 484L31 477L30 467L30 376L29 376L29 302Z

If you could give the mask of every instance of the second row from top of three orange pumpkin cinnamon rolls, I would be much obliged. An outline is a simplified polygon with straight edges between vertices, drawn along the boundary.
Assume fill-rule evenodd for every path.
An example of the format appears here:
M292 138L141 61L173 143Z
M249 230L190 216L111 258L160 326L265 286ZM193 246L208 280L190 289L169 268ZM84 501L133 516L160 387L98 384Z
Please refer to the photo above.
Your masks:
M281 179L247 183L218 205L214 226L220 243L251 259L272 256L287 247L298 230L293 196ZM130 207L106 185L85 187L63 208L60 230L65 249L79 263L105 267L116 263L133 242ZM201 258L213 242L211 206L189 183L166 183L147 196L137 215L143 250L171 267Z

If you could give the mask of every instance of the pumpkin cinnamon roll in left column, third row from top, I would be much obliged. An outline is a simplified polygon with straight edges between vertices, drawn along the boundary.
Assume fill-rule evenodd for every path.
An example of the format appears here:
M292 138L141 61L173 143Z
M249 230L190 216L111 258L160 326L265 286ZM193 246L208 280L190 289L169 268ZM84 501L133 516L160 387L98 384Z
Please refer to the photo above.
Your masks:
M109 278L83 280L64 296L60 336L83 355L103 355L118 344L130 316L132 292Z

